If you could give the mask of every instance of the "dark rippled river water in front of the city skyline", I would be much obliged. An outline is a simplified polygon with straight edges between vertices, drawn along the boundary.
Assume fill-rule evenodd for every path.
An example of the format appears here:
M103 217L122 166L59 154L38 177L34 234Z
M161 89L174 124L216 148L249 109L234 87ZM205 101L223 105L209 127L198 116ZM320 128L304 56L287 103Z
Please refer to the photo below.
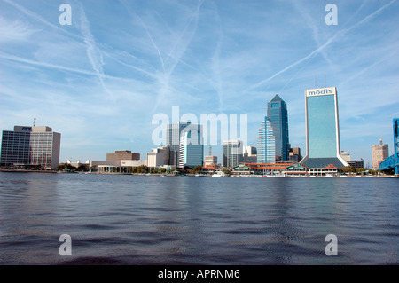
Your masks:
M0 172L0 264L397 264L398 184Z

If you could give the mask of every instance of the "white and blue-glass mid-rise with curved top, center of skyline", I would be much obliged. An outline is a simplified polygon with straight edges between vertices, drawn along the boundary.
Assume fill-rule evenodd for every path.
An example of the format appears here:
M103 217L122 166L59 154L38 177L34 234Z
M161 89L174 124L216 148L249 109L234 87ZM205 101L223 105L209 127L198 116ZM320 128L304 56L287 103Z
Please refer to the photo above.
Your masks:
M180 148L178 166L202 166L204 161L204 141L202 126L188 122L180 132Z

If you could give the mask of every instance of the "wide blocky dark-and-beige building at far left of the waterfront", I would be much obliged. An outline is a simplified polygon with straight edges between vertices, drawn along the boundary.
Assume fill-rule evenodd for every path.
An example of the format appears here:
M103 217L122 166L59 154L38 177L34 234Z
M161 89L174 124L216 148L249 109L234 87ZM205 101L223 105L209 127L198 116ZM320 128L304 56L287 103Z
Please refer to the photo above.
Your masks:
M61 134L50 127L14 126L4 130L1 166L40 166L55 169L59 165Z

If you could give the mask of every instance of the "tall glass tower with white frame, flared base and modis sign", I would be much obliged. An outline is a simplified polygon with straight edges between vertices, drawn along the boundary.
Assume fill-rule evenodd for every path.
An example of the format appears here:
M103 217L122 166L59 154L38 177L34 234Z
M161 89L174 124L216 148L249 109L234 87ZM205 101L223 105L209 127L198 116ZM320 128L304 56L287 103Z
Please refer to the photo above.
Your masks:
M301 164L308 168L348 166L340 156L337 89L305 90L305 101L306 156Z

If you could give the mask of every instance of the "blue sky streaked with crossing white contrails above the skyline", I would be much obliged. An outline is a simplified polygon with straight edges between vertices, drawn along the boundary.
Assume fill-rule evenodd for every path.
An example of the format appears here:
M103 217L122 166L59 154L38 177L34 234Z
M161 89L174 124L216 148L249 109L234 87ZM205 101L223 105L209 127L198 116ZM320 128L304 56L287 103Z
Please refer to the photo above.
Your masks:
M72 25L59 24L70 4ZM338 25L325 24L336 4ZM0 0L0 130L50 126L61 161L149 152L153 115L247 114L256 145L268 101L286 101L305 154L304 90L336 86L341 149L393 153L399 1ZM207 149L206 149L207 153ZM214 146L221 160L221 146Z

